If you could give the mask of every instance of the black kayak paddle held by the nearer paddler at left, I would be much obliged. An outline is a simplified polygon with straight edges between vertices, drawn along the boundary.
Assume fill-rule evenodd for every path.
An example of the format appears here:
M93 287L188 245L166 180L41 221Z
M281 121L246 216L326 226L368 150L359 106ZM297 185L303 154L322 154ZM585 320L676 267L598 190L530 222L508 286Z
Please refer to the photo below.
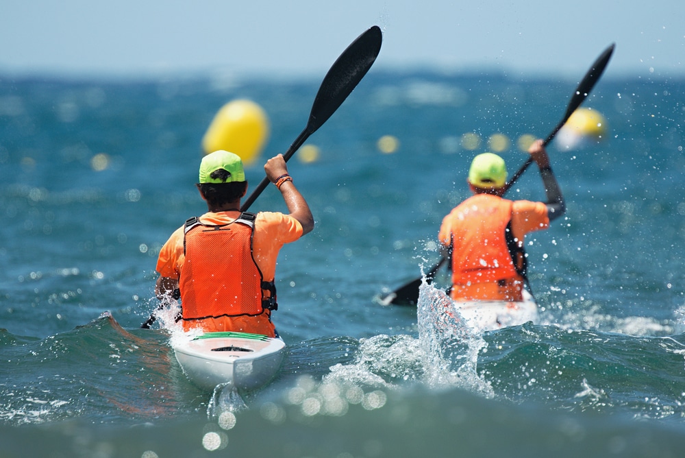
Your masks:
M321 87L319 87L319 92L316 93L306 127L290 145L286 154L283 155L286 162L288 162L288 159L295 154L307 138L316 132L338 110L343 101L347 99L347 96L350 95L364 75L366 75L366 72L371 69L371 65L373 65L380 52L382 40L383 34L380 27L374 25L358 36L340 54L340 57L334 62L323 78L323 82L321 82ZM268 184L269 178L264 177L256 189L252 191L251 195L247 197L247 200L240 206L240 211L246 211L262 191L266 189ZM160 304L158 310L162 308L163 305ZM140 327L149 329L155 320L155 314L152 313Z

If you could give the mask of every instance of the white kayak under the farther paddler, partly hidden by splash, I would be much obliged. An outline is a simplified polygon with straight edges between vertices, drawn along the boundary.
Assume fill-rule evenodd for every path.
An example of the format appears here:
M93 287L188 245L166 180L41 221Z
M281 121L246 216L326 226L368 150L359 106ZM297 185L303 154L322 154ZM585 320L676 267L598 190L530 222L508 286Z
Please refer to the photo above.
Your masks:
M473 300L453 302L453 305L466 324L477 330L497 330L527 322L536 324L539 320L538 304L525 289L521 302Z

